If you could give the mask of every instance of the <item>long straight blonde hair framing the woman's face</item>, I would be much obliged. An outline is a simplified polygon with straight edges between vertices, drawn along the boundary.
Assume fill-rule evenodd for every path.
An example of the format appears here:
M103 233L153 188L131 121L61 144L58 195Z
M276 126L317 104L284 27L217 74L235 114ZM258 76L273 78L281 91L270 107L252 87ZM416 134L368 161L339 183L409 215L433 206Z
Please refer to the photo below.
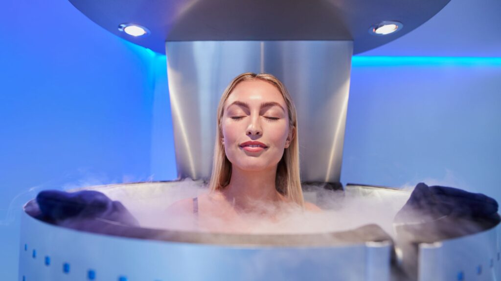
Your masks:
M294 137L289 147L285 148L284 155L277 166L275 187L286 198L304 206L303 191L299 172L299 142L296 107L284 84L274 75L268 73L246 72L236 76L224 90L217 107L216 140L214 145L214 161L212 163L212 175L210 177L210 191L220 190L229 184L231 177L231 162L226 157L224 145L221 142L221 118L224 114L224 103L235 86L242 81L261 80L277 87L287 104L289 113L289 129L294 129Z

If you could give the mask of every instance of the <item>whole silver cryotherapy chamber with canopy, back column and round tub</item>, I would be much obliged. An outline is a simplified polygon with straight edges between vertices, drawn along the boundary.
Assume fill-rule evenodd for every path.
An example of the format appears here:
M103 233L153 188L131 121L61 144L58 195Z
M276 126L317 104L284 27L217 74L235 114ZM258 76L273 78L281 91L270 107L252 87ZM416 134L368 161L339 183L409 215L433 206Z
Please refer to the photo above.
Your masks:
M180 179L210 176L220 94L234 76L251 71L276 75L294 99L302 179L337 186L352 55L413 30L448 0L70 2L110 32L166 53ZM137 27L144 27L138 36L126 33ZM396 32L384 35L385 28ZM131 208L175 188L178 181L84 189L101 191ZM388 198L405 202L409 196L373 186L342 189L343 196L371 195L381 203ZM316 192L305 186L307 200L316 202ZM245 235L160 230L101 219L90 230L41 221L38 207L32 200L23 213L19 279L24 281L501 278L499 226L400 247L398 237L370 224L327 233Z

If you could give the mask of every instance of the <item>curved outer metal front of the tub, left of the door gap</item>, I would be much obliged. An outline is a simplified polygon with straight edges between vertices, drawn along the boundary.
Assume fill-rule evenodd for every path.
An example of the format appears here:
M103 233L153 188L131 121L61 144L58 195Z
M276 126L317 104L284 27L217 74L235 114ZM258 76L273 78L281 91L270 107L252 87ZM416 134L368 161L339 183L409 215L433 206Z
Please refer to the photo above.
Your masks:
M22 218L19 278L23 280L366 280L367 267L388 271L389 258L364 243L326 247L204 245L75 231ZM206 235L210 235L206 234ZM27 245L27 250L24 245ZM32 251L37 257L32 257ZM389 255L391 245L377 250ZM51 265L44 264L44 257ZM63 263L70 265L63 272ZM373 263L375 263L373 265ZM376 273L376 272L374 272ZM120 279L122 280L122 279ZM371 279L376 280L376 279ZM387 279L377 279L386 281Z

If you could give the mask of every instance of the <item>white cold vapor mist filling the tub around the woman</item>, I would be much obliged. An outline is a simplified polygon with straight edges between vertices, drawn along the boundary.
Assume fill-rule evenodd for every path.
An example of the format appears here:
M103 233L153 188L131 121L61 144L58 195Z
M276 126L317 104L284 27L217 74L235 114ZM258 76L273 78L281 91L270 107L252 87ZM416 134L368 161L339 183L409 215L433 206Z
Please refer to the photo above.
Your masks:
M250 234L307 234L336 232L366 224L377 224L393 236L393 218L405 204L410 192L349 186L346 191L332 191L320 186L304 186L305 199L318 204L322 211L303 210L299 206L281 203L265 204L256 201L255 209L276 214L274 219L261 212L242 212L241 224L228 226L218 217L204 217L211 229L226 233ZM201 181L186 179L178 182L155 182L94 186L113 200L121 201L136 217L141 227L170 230L210 231L194 221L194 216L170 214L167 207L173 202L193 198L208 192ZM203 215L203 209L200 209Z

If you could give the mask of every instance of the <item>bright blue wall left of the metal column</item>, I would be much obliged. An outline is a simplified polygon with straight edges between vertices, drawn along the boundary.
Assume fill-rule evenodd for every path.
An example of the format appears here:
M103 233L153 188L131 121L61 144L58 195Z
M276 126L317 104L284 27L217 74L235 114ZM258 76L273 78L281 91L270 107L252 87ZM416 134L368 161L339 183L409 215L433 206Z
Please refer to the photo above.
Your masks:
M150 178L152 104L166 66L165 56L110 34L66 0L2 0L0 18L8 23L0 36L0 280L15 280L20 208L30 197ZM174 178L174 159L164 158L163 176Z

